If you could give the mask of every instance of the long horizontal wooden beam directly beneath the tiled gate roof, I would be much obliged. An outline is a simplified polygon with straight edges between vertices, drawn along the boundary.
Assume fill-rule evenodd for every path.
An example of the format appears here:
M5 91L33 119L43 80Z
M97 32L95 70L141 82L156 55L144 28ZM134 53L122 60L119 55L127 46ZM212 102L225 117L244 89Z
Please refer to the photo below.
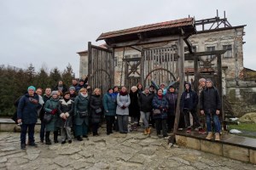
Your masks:
M141 45L145 43L154 43L154 42L168 42L168 41L177 41L179 36L168 36L168 37L154 37L154 38L145 38L144 40L135 40L130 42L108 42L108 45L112 48L121 48L121 47L131 47L133 45Z

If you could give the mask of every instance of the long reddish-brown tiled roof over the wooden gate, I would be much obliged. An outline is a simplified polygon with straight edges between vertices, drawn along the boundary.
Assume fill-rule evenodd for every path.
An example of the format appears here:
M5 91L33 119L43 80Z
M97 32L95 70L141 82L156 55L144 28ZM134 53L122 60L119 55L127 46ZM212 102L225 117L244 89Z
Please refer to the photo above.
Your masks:
M170 21L160 22L160 23L156 23L156 24L137 26L137 27L128 28L125 30L109 31L106 33L102 33L102 35L100 37L98 37L96 39L96 41L107 39L110 37L119 37L119 36L124 36L124 35L139 33L139 32L145 32L145 31L155 31L155 30L162 30L162 29L166 29L166 28L175 28L175 27L181 27L181 26L194 26L194 24L195 24L194 18L170 20Z

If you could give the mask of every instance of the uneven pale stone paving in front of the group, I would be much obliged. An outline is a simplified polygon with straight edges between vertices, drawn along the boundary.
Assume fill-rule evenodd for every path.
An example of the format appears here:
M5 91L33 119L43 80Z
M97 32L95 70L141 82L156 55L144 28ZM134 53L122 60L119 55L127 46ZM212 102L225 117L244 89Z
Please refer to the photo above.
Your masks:
M256 169L256 165L199 150L169 148L155 133L113 133L72 144L40 144L20 150L20 133L0 133L0 169ZM140 129L142 131L142 129ZM52 138L52 134L51 134Z

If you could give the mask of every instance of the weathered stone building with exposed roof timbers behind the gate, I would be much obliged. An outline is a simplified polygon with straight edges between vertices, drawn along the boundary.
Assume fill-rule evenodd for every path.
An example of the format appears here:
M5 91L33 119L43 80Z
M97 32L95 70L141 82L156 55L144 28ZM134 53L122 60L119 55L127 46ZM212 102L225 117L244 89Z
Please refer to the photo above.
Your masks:
M165 23L165 22L163 22ZM158 23L160 24L160 23ZM207 24L210 25L210 28L207 28ZM148 25L149 26L149 25ZM247 111L256 111L256 84L255 80L246 81L245 79L245 70L243 65L243 36L245 36L245 25L244 26L231 26L226 18L219 19L218 17L207 19L207 20L196 20L195 26L197 32L189 36L189 42L193 47L195 52L207 52L215 50L226 50L221 56L222 60L222 89L223 94L226 96L228 102L230 102L231 110L233 108L233 113L235 115L242 115ZM143 27L143 26L142 26ZM208 26L209 27L209 26ZM127 29L129 30L129 29ZM201 31L199 31L201 30ZM184 43L186 51L186 43ZM142 52L138 48L150 48L154 50L159 47L165 48L163 51L156 53L160 57L165 57L166 48L174 47L177 44L176 41L166 41L166 42L157 42L157 43L148 43L146 45L139 45L137 48L115 48L113 54L113 66L114 66L114 85L124 85L125 84L125 59L138 59L141 58ZM107 44L100 46L101 48L108 48ZM149 53L149 52L148 52ZM168 52L170 54L170 52ZM187 52L189 53L189 51ZM88 51L82 51L78 53L80 56L80 77L82 75L88 74ZM156 56L157 59L157 56ZM146 62L146 61L145 61ZM135 61L131 60L130 63L136 65ZM129 66L129 65L128 65ZM214 75L218 73L217 59L214 55L207 55L199 57L199 68L198 71L201 73L201 77L210 77L214 79ZM177 75L178 65L173 65L172 73ZM195 65L193 60L185 60L185 80L190 81L194 79L195 75ZM131 68L131 70L134 68ZM255 71L253 71L255 72ZM127 72L126 72L127 73ZM139 72L133 71L130 77L136 78L139 75ZM149 85L150 80L153 78L156 82L172 82L174 81L173 77L166 76L159 77L158 74L166 74L164 72L158 71L152 72L145 79L144 85ZM148 79L147 79L148 78ZM143 79L140 79L143 80ZM135 84L134 84L135 85ZM250 106L241 107L241 105L248 104ZM240 109L239 109L240 108ZM240 111L237 111L240 110ZM230 110L230 111L231 111ZM237 112L234 112L234 111Z

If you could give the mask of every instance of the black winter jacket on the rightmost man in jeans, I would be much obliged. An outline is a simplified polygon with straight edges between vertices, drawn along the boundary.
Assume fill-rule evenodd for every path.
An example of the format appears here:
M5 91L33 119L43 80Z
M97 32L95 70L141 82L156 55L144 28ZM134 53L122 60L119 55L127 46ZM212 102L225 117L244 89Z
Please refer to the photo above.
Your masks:
M200 96L200 110L204 110L206 113L215 113L220 109L221 101L218 89L214 87L204 89Z

